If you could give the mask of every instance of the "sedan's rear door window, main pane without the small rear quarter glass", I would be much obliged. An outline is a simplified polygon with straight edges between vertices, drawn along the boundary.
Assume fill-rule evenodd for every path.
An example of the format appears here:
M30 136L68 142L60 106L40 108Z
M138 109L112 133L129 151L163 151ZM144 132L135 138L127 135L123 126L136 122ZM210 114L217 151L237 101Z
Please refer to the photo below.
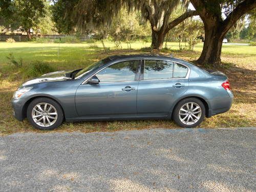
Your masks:
M173 62L164 60L145 60L144 79L173 78Z

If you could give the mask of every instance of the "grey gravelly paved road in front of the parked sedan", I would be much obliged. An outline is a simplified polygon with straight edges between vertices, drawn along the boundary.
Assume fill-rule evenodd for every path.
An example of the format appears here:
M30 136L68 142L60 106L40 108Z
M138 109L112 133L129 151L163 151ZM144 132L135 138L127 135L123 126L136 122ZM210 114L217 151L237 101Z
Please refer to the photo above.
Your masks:
M0 137L0 191L256 191L256 127Z

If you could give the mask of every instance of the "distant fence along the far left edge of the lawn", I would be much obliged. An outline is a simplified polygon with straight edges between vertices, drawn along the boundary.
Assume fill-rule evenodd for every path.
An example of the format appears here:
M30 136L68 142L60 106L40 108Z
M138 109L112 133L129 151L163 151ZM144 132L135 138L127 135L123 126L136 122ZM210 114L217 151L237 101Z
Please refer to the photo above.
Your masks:
M38 38L49 38L49 39L61 39L64 37L75 37L74 35L33 35L33 37L38 37ZM15 41L26 41L28 40L27 35L22 35L22 34L0 34L0 41L6 41L8 38L13 38ZM86 41L91 38L91 35L81 35L80 41Z

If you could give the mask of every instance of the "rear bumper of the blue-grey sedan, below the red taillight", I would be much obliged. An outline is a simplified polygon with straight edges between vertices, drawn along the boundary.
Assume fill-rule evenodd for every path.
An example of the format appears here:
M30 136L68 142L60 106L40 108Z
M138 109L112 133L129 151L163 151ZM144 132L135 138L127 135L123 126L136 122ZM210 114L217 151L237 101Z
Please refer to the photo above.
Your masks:
M207 117L211 117L213 115L217 115L220 113L227 112L232 105L233 102L233 94L231 91L227 91L229 97L227 98L221 98L221 99L211 99L207 100L209 106L209 111Z

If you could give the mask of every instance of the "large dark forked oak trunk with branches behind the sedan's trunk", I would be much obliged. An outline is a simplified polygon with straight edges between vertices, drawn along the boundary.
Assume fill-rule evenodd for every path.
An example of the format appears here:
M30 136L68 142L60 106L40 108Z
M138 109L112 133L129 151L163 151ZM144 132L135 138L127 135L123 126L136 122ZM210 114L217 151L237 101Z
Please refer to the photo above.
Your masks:
M199 63L219 65L222 41L238 19L256 7L255 0L190 0L204 23L205 40Z

